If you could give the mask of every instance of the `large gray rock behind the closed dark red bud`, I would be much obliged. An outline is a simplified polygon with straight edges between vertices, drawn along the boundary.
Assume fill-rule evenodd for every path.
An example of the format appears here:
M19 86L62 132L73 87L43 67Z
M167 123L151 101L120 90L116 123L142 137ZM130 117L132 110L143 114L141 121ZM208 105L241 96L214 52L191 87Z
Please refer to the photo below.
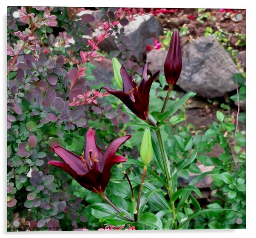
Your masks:
M151 50L147 61L149 70L161 69L167 50ZM185 45L182 49L182 72L177 85L185 91L193 91L197 96L216 98L236 89L231 77L239 73L229 54L214 36L202 36Z

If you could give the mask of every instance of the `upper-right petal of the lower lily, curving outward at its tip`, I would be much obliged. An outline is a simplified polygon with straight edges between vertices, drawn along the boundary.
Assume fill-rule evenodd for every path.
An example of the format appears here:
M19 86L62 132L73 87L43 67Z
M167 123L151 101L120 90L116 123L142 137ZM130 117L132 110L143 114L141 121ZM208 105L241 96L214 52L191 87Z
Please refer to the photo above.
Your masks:
M117 149L123 144L125 143L126 140L130 139L131 138L131 135L125 135L125 136L122 136L122 137L119 137L115 140L113 140L109 145L108 147L106 148L104 154L103 154L103 157L102 157L102 171L104 169L104 167L108 164L108 160L113 157L116 152L117 152Z

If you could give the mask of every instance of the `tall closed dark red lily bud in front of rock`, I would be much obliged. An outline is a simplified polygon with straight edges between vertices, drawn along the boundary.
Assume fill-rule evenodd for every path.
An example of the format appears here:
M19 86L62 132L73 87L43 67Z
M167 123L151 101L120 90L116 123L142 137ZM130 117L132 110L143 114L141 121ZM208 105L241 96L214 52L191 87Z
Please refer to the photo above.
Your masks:
M170 47L165 59L165 78L169 85L175 85L182 70L179 31L173 31Z

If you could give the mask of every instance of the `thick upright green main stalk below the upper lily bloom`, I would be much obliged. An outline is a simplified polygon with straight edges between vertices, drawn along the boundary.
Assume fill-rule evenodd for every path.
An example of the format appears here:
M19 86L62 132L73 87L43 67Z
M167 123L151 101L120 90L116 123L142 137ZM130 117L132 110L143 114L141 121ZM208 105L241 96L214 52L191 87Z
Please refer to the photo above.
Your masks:
M170 179L170 174L168 172L167 162L165 160L165 151L164 151L161 132L160 132L159 128L156 130L156 136L157 136L157 140L159 143L159 148L160 148L162 161L163 161L163 165L164 165L165 177L166 177L166 181L167 181L167 185L168 185L168 195L169 195L169 198L171 199L171 196L172 196L171 179ZM172 214L173 214L173 218L174 218L174 228L177 229L177 217L176 217L176 211L175 211L175 204L174 204L174 202L171 202L171 201L170 201L170 204L171 204L171 210L172 210Z

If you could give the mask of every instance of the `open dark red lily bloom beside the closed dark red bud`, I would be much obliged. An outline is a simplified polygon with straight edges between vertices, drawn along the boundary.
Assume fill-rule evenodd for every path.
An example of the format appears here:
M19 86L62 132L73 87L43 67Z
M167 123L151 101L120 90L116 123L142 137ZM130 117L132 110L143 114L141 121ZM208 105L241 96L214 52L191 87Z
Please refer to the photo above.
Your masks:
M120 69L122 77L122 92L114 90L109 87L102 87L108 93L119 98L135 115L137 115L142 120L148 119L148 103L149 103L149 91L154 79L158 76L160 70L157 70L150 78L148 78L146 63L142 70L142 80L140 84L137 85L135 79L132 79L128 75L125 67L122 65Z

